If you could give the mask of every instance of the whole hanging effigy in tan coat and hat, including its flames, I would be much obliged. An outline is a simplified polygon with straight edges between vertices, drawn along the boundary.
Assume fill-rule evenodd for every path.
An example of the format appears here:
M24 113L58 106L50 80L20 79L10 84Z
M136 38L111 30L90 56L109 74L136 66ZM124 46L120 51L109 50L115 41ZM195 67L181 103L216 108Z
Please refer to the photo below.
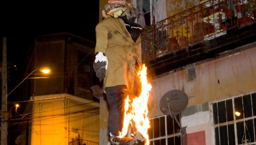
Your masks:
M104 81L103 91L109 105L108 134L115 145L149 144L147 101L151 85L141 59L142 26L135 22L131 4L125 0L108 0L97 24L95 61L96 76ZM136 62L141 65L138 75L142 90L133 96ZM129 94L129 95L127 95ZM132 125L131 125L132 124ZM128 127L133 128L133 137Z

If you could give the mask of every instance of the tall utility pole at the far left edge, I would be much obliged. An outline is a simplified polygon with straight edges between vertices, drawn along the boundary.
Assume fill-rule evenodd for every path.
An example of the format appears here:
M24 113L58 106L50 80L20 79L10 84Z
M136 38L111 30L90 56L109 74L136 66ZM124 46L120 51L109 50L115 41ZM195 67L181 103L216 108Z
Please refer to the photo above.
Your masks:
M3 61L2 61L2 102L1 102L1 145L7 145L7 49L6 37L3 37Z

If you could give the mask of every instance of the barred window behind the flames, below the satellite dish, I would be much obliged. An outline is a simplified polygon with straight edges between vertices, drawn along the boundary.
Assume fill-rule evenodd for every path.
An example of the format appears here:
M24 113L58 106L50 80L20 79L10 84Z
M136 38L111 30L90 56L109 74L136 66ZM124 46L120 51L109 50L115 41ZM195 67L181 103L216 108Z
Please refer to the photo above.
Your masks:
M176 117L180 123L180 114ZM181 132L175 119L163 115L152 118L149 121L148 136L150 145L181 145Z

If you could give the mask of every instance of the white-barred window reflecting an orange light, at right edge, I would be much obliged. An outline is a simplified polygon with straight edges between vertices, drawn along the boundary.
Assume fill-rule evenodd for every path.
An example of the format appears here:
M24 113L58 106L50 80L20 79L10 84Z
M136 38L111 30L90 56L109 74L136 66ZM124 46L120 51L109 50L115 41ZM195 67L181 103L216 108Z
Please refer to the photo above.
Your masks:
M210 109L216 145L256 144L256 92L212 102Z

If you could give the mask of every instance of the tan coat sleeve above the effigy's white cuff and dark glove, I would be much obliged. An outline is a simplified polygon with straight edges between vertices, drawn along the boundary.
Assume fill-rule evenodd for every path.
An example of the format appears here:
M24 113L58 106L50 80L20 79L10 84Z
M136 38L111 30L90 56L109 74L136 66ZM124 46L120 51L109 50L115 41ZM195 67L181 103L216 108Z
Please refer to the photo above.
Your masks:
M106 21L100 22L96 28L96 46L95 46L95 53L96 52L106 52L107 43L108 43L108 23Z

